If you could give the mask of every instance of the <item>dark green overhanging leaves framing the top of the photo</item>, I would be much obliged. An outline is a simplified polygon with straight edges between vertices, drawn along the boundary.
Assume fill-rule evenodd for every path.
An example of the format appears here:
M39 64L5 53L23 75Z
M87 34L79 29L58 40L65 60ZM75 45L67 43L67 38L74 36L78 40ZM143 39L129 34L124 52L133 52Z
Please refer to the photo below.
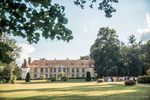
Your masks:
M111 17L116 10L112 3L118 0L73 0L74 4L84 8L87 1L90 7L98 2L99 10ZM72 31L66 27L68 19L65 7L53 0L0 0L0 36L11 34L26 38L29 43L37 43L40 37L69 41Z

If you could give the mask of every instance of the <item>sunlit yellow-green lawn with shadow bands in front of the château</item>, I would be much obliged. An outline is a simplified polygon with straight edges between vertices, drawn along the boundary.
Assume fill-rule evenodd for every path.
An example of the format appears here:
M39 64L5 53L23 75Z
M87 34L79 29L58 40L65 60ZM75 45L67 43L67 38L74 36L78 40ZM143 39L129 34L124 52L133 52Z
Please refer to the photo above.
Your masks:
M150 100L150 85L123 83L47 82L0 84L0 100Z

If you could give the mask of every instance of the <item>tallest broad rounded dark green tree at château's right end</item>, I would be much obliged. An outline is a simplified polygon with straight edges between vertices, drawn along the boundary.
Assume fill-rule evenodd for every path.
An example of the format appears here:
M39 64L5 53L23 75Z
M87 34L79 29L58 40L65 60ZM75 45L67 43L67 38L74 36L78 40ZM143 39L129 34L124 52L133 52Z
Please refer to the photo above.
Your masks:
M119 40L114 29L102 27L91 46L91 57L95 60L98 77L118 75Z

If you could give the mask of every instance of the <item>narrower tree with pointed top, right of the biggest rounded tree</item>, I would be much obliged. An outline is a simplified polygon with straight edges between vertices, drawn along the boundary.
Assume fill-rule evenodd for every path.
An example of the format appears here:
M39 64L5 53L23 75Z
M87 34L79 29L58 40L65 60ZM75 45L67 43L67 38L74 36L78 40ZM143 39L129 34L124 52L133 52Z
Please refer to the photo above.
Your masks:
M129 76L139 76L142 74L141 42L136 42L135 36L130 35L128 48L127 67Z

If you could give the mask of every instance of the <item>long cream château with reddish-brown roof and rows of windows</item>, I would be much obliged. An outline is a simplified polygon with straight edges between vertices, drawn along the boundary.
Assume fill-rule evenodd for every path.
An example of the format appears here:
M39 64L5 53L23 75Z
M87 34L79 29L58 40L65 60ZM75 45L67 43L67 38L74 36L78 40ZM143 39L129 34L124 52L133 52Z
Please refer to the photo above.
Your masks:
M60 72L64 72L68 78L84 78L86 72L91 73L91 77L94 77L94 62L91 59L88 60L31 60L28 62L24 60L22 64L22 78L25 79L26 74L29 72L31 79L39 79L41 75L45 75L46 78L58 77Z

